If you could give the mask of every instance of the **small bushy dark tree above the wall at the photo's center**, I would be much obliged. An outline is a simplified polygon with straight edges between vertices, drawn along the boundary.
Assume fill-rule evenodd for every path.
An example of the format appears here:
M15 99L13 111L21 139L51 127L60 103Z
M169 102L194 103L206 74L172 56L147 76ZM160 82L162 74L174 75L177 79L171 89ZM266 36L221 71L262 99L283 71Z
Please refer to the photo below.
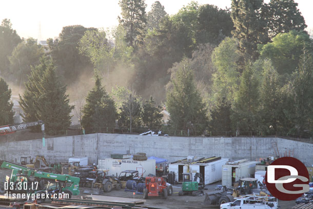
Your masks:
M159 129L162 126L162 117L160 113L162 110L161 106L155 107L155 101L152 97L150 100L146 100L143 105L142 111L142 123L149 129Z

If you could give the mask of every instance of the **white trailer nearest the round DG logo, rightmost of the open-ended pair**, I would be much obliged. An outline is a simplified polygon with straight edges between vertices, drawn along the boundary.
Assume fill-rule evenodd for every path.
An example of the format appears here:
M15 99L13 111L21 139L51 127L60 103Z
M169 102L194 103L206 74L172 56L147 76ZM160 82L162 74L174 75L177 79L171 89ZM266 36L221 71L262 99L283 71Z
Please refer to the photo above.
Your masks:
M258 163L246 159L227 162L223 165L222 185L231 187L242 178L254 177Z

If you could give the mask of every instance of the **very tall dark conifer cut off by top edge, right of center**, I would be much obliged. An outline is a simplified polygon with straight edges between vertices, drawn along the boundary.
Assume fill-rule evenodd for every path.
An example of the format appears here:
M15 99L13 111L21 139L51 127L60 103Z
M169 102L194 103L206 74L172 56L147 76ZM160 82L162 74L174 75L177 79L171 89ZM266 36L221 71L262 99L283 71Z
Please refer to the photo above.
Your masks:
M231 33L239 41L242 68L249 60L258 58L258 44L265 44L268 40L262 6L263 0L231 1L231 18L235 28Z

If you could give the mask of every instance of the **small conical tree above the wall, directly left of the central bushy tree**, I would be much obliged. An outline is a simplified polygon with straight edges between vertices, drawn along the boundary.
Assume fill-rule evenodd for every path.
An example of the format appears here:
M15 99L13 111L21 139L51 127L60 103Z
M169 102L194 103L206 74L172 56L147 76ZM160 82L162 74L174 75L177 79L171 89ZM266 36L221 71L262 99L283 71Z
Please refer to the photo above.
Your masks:
M139 127L141 124L141 104L135 95L130 93L127 100L123 103L120 108L120 127L129 127L130 132L132 132L132 127ZM134 124L134 125L133 125ZM129 125L129 126L128 126Z

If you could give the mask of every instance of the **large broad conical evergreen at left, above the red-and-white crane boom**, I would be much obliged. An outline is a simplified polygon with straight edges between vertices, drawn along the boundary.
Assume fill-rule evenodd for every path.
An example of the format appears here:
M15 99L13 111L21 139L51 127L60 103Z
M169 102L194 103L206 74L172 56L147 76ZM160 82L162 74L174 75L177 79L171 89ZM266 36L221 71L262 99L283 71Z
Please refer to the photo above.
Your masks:
M31 70L26 83L24 97L20 96L20 105L25 113L24 121L43 120L46 132L50 135L65 131L70 123L70 112L66 86L55 75L51 60L41 58L41 63Z

